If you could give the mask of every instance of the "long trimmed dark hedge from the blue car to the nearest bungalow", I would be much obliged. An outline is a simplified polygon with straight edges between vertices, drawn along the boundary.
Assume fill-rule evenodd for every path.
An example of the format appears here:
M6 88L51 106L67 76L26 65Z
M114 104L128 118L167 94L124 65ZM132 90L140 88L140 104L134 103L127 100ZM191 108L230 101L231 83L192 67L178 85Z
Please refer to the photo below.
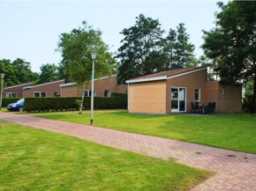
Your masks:
M76 110L81 97L25 98L27 112ZM91 108L91 97L85 97L83 109ZM111 97L94 97L94 109L126 109L127 93L112 92Z

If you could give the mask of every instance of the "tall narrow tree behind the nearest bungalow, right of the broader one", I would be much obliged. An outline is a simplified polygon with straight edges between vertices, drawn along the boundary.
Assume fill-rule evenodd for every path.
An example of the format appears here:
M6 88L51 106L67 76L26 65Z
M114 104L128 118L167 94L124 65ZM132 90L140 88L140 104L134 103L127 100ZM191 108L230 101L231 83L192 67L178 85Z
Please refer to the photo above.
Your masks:
M190 35L186 33L184 23L177 26L177 43L175 44L175 60L173 69L183 69L196 66L196 58L193 54L194 45L189 42Z

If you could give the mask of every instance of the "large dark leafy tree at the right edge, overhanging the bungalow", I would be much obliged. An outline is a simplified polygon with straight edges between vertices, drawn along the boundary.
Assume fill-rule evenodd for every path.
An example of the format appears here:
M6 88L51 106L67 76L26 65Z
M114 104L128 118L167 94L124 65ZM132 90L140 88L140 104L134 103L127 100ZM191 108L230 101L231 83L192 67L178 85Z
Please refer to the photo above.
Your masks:
M215 28L203 31L202 48L215 59L215 70L223 82L254 82L252 105L256 108L256 2L218 5L222 11L215 14Z

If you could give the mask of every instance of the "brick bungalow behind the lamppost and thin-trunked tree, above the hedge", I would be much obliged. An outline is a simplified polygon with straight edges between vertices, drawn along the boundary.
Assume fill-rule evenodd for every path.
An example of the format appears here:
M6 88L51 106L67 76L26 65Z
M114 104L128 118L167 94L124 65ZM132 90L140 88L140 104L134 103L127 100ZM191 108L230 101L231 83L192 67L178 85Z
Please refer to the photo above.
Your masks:
M60 84L62 97L81 96L82 88L77 83ZM88 84L85 91L85 96L91 96L91 84ZM101 77L94 79L94 96L110 97L111 92L127 92L126 84L117 84L117 75L110 77Z

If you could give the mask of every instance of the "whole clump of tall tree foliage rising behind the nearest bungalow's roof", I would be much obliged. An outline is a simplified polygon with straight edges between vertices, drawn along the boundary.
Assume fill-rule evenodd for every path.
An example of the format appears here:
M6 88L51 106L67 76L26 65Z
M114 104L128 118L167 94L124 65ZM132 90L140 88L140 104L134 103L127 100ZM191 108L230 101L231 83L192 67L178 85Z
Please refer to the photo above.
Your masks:
M194 45L189 42L189 34L181 23L177 32L169 30L166 38L158 19L146 18L140 14L136 23L124 28L123 45L118 48L117 58L119 81L145 76L162 70L194 67L197 59L193 55Z

